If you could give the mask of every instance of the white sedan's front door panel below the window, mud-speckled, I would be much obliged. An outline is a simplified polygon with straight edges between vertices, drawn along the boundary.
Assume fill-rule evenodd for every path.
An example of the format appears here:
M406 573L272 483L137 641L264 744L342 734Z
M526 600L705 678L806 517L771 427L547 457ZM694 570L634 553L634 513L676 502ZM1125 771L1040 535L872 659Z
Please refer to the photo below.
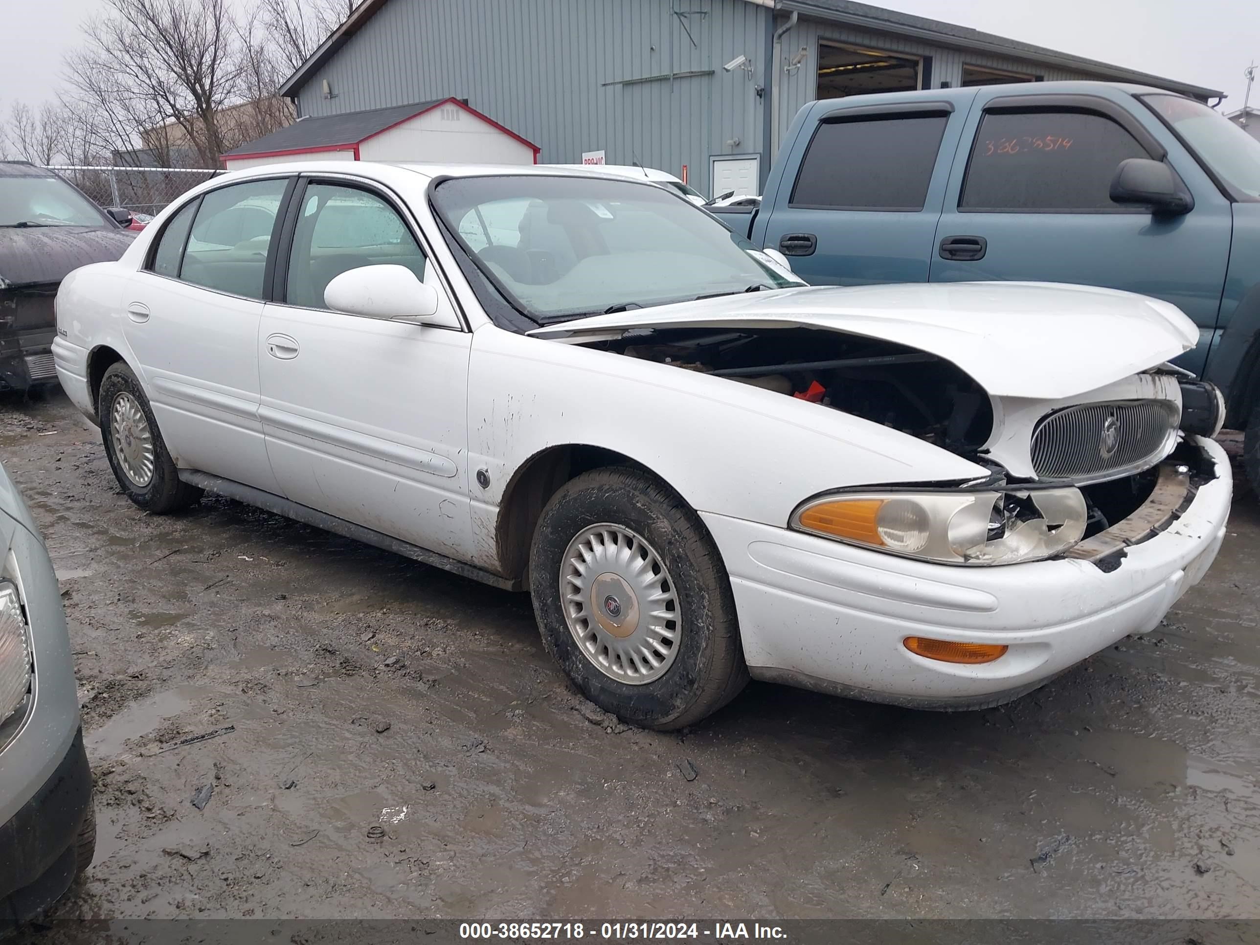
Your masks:
M464 331L267 305L262 425L282 495L465 557Z

